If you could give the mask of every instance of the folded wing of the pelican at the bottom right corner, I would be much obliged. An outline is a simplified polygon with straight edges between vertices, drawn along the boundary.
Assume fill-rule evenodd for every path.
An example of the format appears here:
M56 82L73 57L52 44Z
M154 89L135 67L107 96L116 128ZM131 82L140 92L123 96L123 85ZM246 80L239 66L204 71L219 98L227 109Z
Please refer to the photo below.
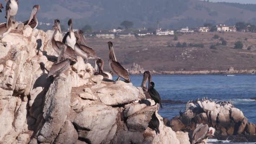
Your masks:
M192 134L192 144L202 141L208 133L209 127L207 124L199 124Z

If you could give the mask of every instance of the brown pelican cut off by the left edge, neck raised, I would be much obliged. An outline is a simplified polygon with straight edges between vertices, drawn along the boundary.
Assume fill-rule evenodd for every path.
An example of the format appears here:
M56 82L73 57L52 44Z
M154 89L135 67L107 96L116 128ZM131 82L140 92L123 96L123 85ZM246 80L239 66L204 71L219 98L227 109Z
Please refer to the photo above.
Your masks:
M2 23L0 24L0 35L1 39L6 36L8 33L10 33L11 28L13 26L12 20L10 18L10 7L7 7L7 22L8 23Z

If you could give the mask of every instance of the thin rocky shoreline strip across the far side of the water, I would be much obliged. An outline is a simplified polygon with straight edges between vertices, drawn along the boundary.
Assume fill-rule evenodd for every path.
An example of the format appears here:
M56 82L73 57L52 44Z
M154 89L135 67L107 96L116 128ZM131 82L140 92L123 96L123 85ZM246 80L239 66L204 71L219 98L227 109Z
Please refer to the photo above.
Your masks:
M231 70L231 71L220 71L220 70L204 70L204 71L151 71L153 75L249 75L255 74L256 69L252 70ZM143 72L129 72L130 75L143 75Z

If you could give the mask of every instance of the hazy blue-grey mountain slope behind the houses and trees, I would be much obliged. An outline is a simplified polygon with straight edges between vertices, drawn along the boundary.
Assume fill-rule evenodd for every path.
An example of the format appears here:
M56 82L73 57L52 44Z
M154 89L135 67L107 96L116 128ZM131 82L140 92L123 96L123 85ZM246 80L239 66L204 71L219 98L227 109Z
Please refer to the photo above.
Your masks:
M133 28L155 28L157 21L163 28L197 27L203 23L234 25L237 21L256 23L255 4L200 0L33 0L35 3L41 6L40 22L53 23L58 18L66 28L69 18L74 20L75 28L89 24L93 30L117 28L124 20L132 21ZM19 4L16 18L24 21L30 16L32 0L23 0ZM39 27L50 29L51 25Z

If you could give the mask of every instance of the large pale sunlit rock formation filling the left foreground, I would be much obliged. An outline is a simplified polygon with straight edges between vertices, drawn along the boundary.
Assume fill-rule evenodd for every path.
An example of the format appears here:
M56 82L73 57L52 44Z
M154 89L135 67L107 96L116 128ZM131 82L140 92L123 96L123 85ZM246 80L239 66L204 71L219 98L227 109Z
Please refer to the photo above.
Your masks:
M0 43L1 144L189 144L188 134L166 127L157 112L160 134L148 128L158 107L141 88L102 81L80 57L47 78L57 58L52 33L19 24Z

